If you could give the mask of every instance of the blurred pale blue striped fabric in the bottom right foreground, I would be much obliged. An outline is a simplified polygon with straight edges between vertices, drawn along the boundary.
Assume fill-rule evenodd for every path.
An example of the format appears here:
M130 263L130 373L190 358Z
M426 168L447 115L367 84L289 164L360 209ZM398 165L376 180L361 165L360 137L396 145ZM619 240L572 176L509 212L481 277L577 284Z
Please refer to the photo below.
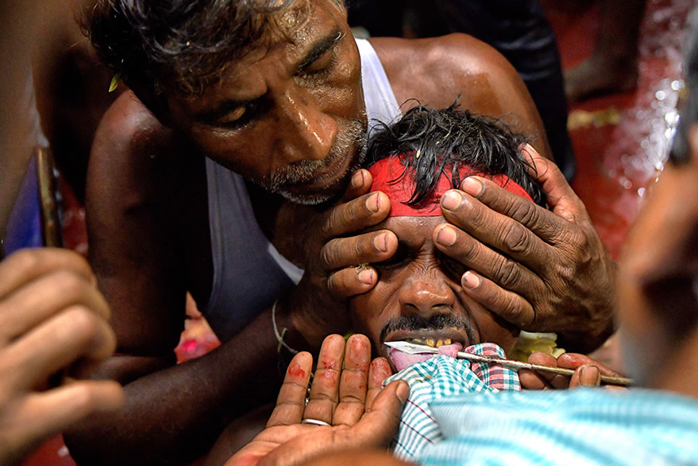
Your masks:
M431 402L422 465L698 465L698 400L639 388L466 393Z

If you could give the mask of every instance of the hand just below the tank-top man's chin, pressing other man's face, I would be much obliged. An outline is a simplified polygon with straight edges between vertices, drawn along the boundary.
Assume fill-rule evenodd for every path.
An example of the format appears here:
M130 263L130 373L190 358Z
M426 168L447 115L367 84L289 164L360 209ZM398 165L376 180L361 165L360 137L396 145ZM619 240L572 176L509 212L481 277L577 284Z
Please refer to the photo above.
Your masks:
M340 203L306 222L306 269L288 305L295 328L313 347L328 333L348 332L347 298L378 282L376 269L360 264L385 261L397 249L391 231L352 235L380 223L390 211L385 194L366 194L372 181L368 170L357 170Z

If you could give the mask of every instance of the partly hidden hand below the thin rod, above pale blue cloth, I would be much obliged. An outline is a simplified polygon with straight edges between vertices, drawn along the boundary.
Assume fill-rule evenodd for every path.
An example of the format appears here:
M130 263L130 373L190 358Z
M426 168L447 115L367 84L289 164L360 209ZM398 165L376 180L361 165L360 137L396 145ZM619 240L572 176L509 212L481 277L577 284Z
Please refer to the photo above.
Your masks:
M594 361L584 354L565 353L559 358L545 353L533 353L528 357L531 364L547 365L549 367L564 367L574 369L572 377L564 375L550 374L549 372L535 372L533 370L519 370L519 380L523 388L529 390L543 390L547 388L574 388L577 386L600 386L601 376L610 375L620 377L615 370L598 361ZM625 387L616 385L604 385L604 388L614 390L625 390Z

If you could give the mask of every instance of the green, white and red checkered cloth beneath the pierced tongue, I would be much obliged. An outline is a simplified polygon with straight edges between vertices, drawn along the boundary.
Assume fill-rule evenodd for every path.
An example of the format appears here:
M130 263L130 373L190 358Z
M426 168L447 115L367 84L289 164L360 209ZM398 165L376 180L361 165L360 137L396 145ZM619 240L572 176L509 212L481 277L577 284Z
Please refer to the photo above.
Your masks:
M493 343L481 343L463 351L482 356L505 358L504 350ZM393 441L393 452L404 460L414 460L425 446L444 439L431 414L431 403L441 398L464 393L521 390L519 374L502 365L470 363L463 359L439 356L410 365L388 377L383 385L396 379L410 384L408 398L402 412L400 430Z

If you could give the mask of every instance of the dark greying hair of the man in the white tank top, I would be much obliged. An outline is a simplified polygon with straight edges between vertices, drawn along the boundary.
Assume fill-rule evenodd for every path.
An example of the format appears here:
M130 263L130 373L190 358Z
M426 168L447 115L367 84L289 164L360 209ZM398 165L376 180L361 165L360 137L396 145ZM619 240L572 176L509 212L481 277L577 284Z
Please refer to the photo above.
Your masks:
M310 0L97 0L80 23L127 85L153 98L171 84L191 95L265 38L270 23L278 30L277 13L292 4L299 8L281 24L288 32L305 24Z

